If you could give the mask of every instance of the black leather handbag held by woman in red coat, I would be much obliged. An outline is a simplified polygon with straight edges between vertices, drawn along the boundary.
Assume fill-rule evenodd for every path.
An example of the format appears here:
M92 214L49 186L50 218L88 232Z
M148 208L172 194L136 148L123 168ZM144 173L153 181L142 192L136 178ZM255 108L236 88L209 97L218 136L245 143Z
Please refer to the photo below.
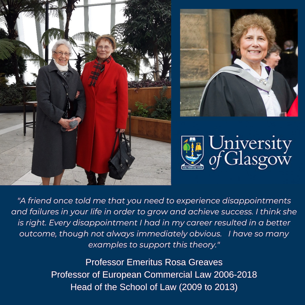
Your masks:
M131 156L131 149L127 145L126 137L124 132L122 135L124 136L125 141L120 141L120 130L118 130L117 135L114 140L113 149L111 153L110 160L108 161L109 165L109 177L113 179L121 180L124 174L127 172L128 168L131 166L132 162L135 160L134 156ZM115 144L117 142L117 138L119 138L119 149L113 156Z

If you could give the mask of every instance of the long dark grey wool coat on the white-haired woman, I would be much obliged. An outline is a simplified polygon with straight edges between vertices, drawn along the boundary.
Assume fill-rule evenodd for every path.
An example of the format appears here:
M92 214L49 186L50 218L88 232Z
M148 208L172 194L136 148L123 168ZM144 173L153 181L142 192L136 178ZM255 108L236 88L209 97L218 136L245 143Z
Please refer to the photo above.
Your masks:
M74 99L77 91L80 91L80 95ZM86 108L84 87L70 64L65 78L52 60L48 66L39 69L36 94L38 103L32 173L40 177L55 177L63 169L75 167L77 129L63 132L58 121L64 114L67 96L77 103L76 116L83 120Z

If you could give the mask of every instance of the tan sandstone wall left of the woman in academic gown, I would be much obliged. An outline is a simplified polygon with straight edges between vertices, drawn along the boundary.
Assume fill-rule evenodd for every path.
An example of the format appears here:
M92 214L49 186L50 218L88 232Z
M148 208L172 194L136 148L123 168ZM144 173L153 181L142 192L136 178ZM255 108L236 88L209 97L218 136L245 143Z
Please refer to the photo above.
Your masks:
M198 116L209 78L231 64L229 9L180 10L180 115Z

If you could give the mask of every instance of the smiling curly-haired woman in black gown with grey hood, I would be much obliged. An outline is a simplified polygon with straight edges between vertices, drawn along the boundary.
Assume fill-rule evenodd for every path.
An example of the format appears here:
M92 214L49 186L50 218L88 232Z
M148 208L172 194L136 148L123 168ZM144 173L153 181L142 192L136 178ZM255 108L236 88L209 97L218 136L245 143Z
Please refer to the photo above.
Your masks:
M292 92L281 74L261 63L274 44L271 20L258 14L242 16L232 34L241 59L211 77L201 98L200 116L283 116L293 102Z

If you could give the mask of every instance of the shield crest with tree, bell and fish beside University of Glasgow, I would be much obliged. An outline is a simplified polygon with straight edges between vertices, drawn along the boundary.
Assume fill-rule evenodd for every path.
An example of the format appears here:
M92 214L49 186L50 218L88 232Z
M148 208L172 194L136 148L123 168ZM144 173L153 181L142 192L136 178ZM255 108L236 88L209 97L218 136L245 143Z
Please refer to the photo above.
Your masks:
M203 170L203 136L181 136L182 170Z

